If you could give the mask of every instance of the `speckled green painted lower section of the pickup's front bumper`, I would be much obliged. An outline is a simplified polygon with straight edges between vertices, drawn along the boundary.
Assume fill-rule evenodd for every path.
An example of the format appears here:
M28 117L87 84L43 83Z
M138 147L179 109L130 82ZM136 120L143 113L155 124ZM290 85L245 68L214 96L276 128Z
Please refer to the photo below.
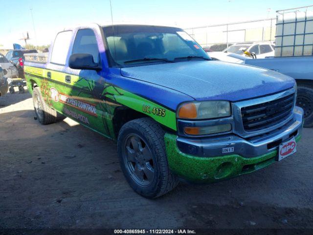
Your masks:
M179 177L192 182L206 183L247 174L275 161L277 150L253 158L237 154L220 157L196 157L182 153L176 144L176 135L165 134L165 145L170 169ZM296 138L299 141L301 136Z

